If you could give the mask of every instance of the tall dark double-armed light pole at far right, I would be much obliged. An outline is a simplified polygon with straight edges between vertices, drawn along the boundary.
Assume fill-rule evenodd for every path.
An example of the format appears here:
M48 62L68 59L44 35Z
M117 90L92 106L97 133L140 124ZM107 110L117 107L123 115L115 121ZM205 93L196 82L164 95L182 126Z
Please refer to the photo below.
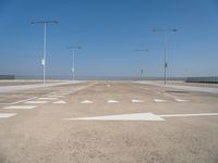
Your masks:
M158 32L158 33L162 33L162 39L164 39L164 46L165 46L165 85L167 84L167 41L166 41L166 34L167 33L175 33L178 32L178 29L162 29L162 28L158 28L158 29L153 29L154 33Z

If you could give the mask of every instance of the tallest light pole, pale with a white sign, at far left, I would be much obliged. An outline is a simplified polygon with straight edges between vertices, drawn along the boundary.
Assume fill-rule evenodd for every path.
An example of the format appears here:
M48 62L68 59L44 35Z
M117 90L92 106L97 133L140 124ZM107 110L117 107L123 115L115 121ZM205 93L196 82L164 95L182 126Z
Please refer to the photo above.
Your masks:
M44 24L44 58L41 59L41 64L44 66L44 85L46 84L46 52L47 52L47 46L46 46L46 30L47 30L47 24L51 23L58 23L58 21L32 21L31 24Z

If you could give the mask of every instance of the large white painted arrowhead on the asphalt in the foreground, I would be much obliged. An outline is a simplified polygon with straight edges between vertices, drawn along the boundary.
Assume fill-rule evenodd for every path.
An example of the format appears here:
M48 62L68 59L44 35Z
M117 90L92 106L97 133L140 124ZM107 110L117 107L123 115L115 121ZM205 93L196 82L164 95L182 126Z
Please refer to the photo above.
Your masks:
M106 116L93 116L93 117L75 117L64 118L69 121L165 121L153 113L134 113L134 114L119 114L119 115L106 115Z

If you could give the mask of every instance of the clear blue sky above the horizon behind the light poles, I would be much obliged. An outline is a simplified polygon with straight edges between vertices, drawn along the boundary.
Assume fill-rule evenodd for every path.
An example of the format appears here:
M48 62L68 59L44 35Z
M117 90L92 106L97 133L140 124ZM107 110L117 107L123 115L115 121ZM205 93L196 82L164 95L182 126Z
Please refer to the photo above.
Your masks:
M218 76L217 0L0 0L0 74L41 75L43 26L48 26L48 75L162 76L161 34L167 35L169 76ZM135 52L148 48L148 52Z

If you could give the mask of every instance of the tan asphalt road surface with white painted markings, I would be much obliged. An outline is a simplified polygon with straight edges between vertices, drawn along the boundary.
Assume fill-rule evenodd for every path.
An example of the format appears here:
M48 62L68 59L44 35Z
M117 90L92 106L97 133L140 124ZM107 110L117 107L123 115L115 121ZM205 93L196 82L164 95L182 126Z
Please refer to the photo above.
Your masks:
M0 163L217 163L217 113L216 93L128 82L0 93Z

